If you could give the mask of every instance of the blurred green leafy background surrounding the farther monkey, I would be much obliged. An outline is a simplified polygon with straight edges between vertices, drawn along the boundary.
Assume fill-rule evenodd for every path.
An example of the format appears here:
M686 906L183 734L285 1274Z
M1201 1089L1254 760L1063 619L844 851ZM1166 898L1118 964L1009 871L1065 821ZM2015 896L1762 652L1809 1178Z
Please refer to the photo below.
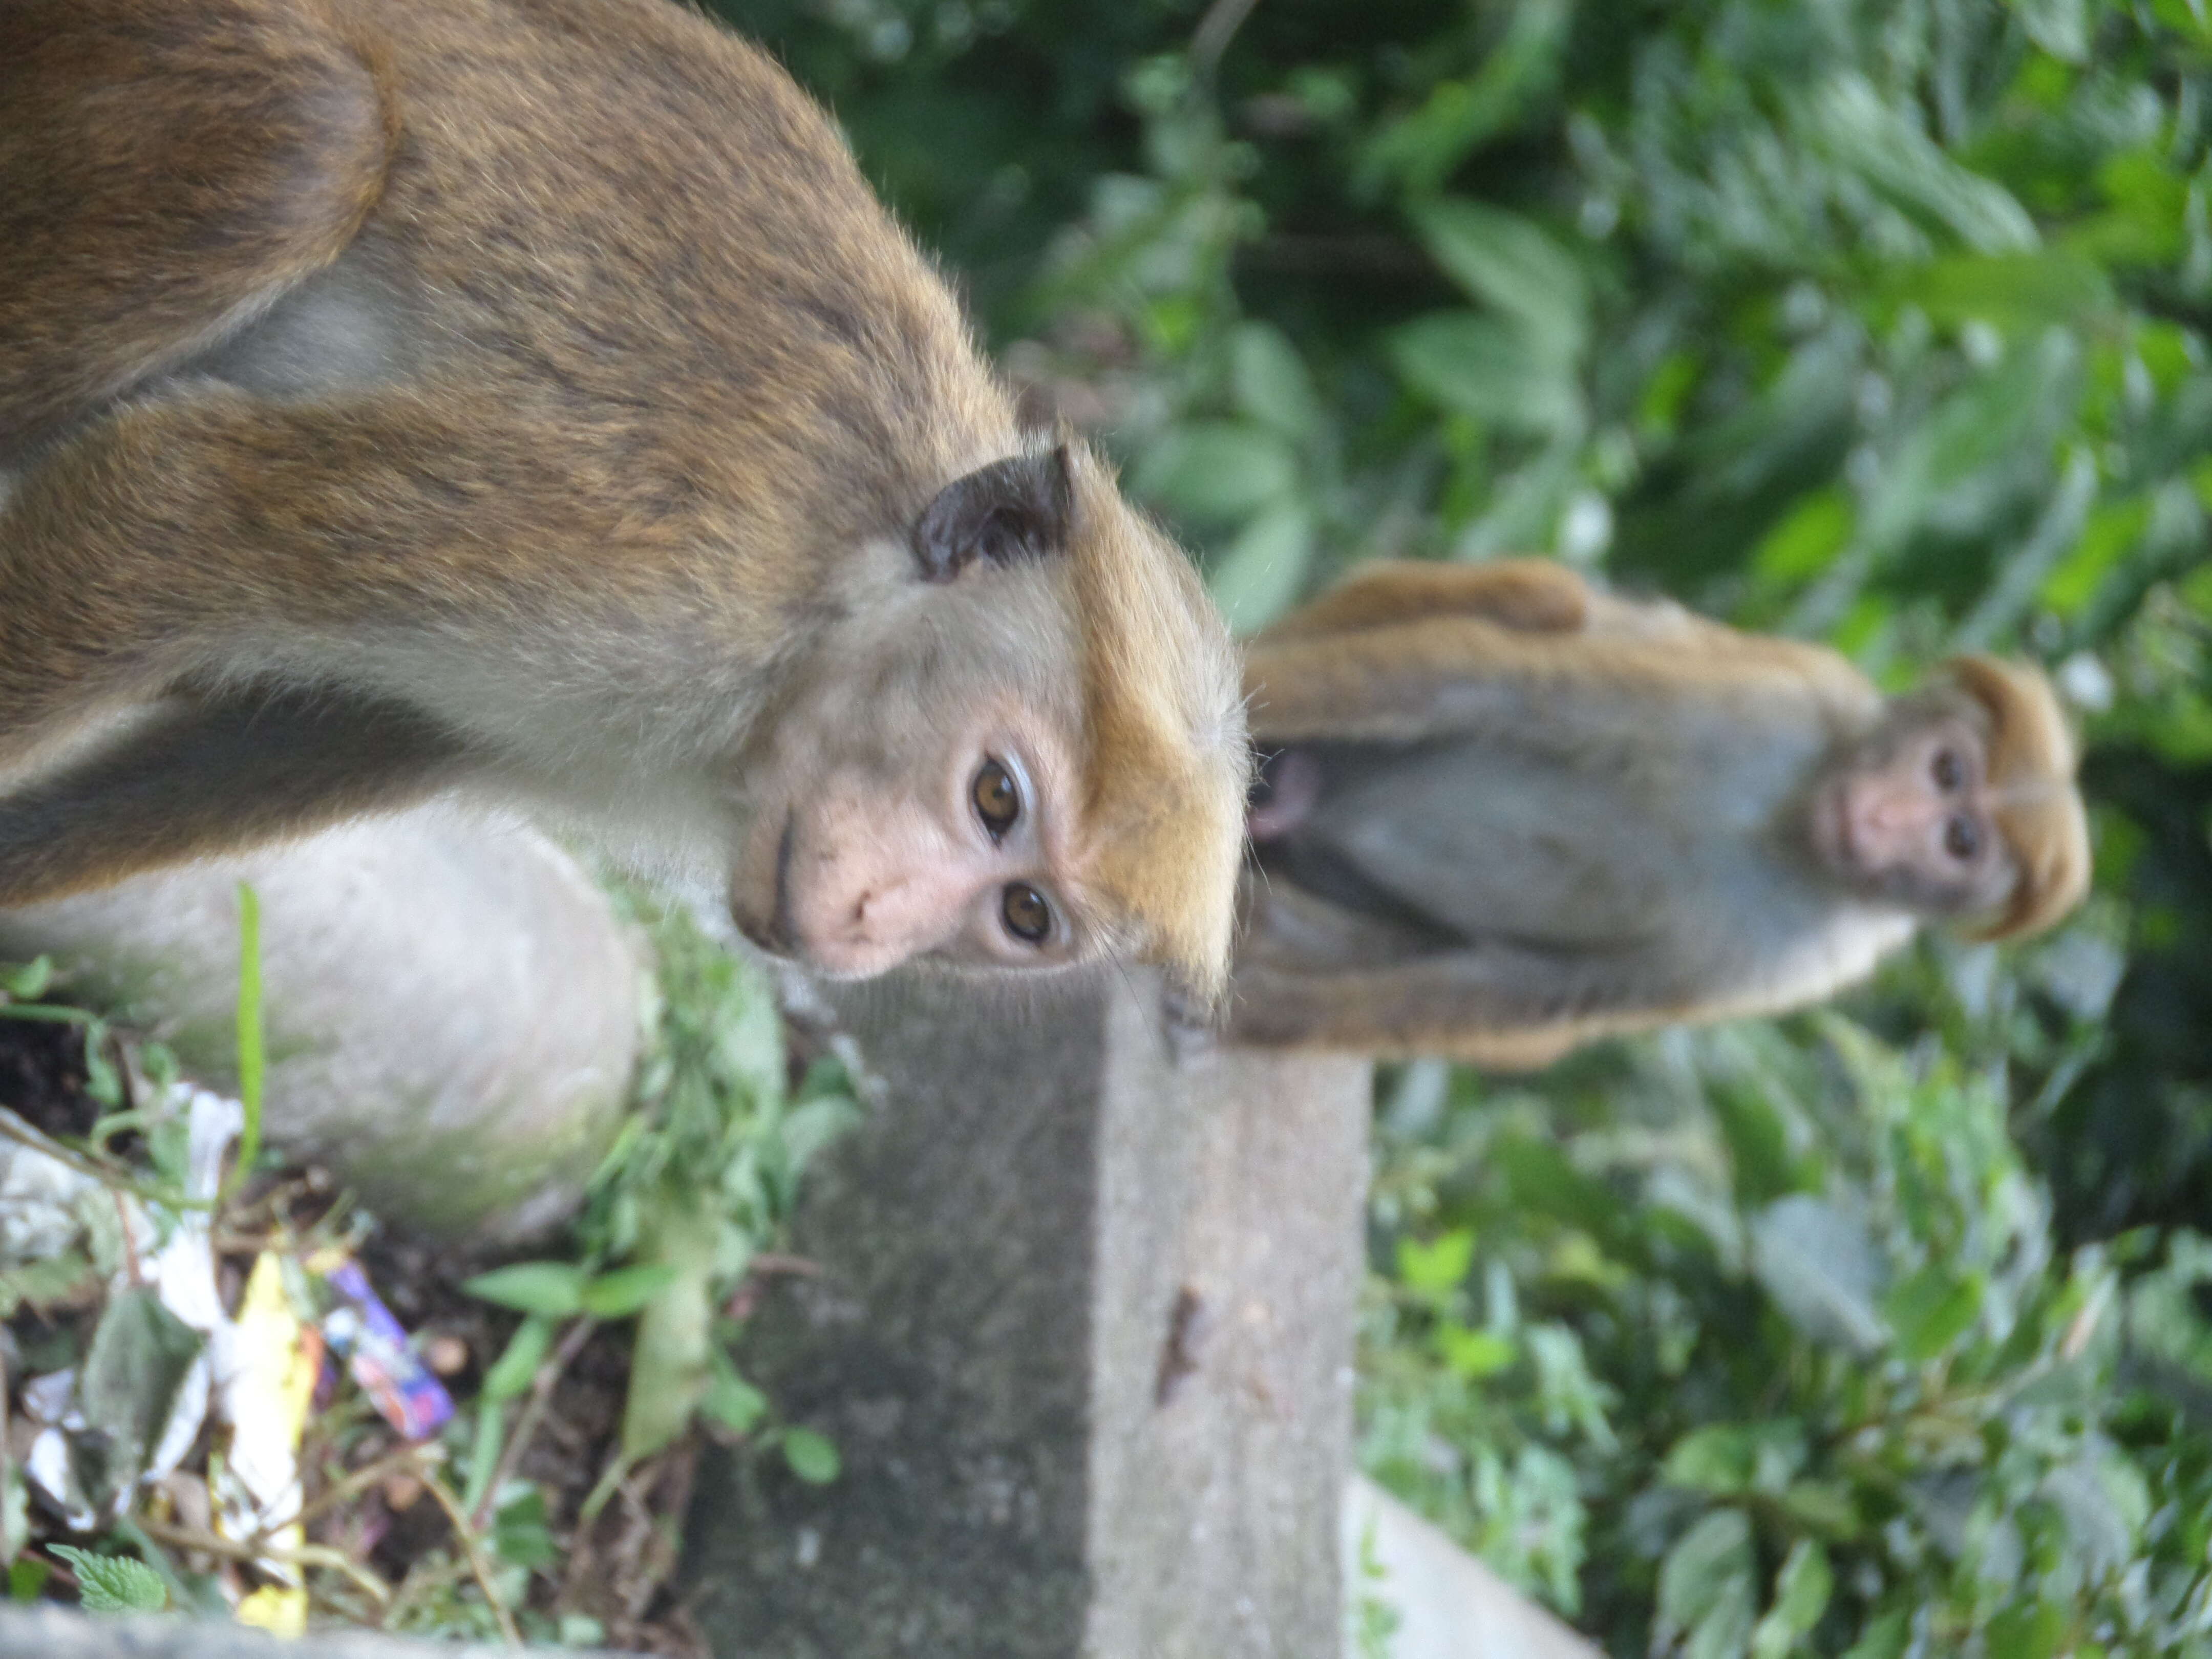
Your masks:
M1624 1659L2212 1652L2205 0L719 9L1243 630L1535 551L2053 670L2057 933L1385 1073L1360 1455Z

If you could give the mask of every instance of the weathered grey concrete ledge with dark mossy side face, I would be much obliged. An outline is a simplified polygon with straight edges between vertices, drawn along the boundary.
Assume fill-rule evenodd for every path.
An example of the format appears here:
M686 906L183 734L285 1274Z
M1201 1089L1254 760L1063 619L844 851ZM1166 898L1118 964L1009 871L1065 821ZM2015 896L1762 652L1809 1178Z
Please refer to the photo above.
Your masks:
M710 1462L726 1659L1340 1646L1367 1066L1179 1062L1146 975L847 1004L885 1106L810 1175L748 1360L843 1478Z

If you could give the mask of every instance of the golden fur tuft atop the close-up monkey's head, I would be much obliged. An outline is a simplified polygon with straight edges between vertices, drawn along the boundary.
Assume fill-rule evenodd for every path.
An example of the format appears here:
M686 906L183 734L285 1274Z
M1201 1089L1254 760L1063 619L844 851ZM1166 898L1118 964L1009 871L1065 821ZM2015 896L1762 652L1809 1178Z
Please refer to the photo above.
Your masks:
M1228 987L1252 790L1237 648L1181 551L1095 456L1068 456L1086 887L1139 953L1212 1006Z

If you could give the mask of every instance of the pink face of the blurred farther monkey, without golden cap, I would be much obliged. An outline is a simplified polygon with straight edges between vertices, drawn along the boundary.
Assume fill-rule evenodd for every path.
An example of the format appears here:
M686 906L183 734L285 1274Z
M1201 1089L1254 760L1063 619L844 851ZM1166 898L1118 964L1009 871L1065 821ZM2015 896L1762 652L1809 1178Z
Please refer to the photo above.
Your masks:
M2017 880L1995 805L1982 723L1905 706L1816 792L1814 849L1867 898L1922 916L1982 911Z

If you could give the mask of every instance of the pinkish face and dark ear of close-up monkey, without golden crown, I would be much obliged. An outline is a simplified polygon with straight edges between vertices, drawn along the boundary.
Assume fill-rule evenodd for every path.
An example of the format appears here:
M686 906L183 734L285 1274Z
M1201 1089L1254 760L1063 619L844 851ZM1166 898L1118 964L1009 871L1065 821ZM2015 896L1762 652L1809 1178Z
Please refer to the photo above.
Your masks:
M995 462L874 551L896 604L849 608L754 772L730 880L754 945L834 978L1086 953L1064 495L1064 451Z

